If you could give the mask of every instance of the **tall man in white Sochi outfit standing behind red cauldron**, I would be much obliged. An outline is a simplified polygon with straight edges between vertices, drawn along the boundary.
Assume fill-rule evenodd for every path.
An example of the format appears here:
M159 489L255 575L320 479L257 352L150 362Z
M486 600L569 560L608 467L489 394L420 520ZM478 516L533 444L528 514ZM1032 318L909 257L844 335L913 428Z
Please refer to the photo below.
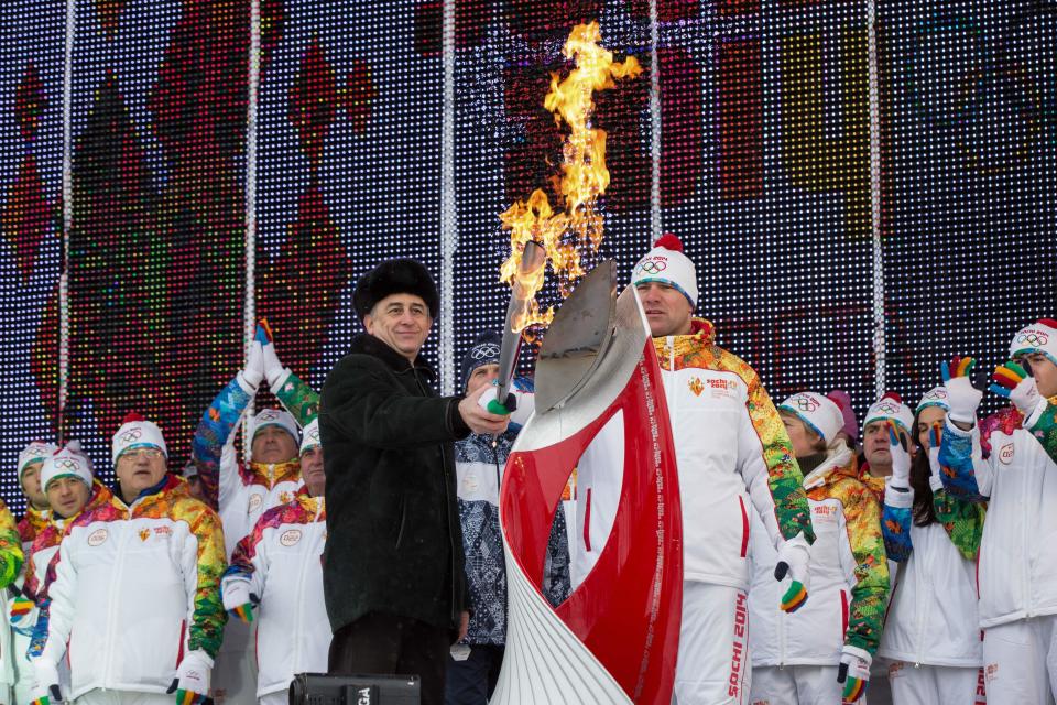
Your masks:
M711 323L694 317L697 271L679 239L661 238L632 270L632 285L661 365L683 506L675 696L679 705L745 703L750 511L764 519L778 553L782 603L796 609L808 595L815 539L804 478L756 372L716 345ZM577 467L574 583L590 571L612 527L622 468L609 445L603 430Z

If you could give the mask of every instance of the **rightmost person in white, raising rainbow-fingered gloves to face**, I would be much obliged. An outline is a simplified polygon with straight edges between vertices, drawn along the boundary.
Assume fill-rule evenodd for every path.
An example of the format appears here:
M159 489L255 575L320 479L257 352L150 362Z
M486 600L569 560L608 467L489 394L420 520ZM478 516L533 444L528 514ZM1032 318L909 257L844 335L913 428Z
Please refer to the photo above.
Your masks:
M956 497L988 502L977 564L988 702L1045 705L1057 696L1057 321L1018 330L1010 357L992 390L1013 402L1013 423L991 432L987 458L972 365L945 364L940 478Z

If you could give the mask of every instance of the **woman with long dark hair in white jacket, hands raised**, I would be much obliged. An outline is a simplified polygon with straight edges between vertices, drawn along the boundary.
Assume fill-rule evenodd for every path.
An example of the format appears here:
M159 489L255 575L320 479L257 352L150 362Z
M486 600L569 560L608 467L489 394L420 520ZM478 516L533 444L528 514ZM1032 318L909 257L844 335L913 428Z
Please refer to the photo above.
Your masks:
M974 588L984 509L944 489L939 440L947 411L942 387L918 403L913 460L911 440L892 433L882 521L885 551L901 567L878 655L891 662L900 705L985 702Z

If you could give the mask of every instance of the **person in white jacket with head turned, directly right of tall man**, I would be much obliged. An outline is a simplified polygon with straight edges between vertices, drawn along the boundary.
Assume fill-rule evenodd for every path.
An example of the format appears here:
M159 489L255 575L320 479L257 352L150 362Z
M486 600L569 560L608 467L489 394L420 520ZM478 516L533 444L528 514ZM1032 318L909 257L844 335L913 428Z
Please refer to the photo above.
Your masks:
M889 604L881 503L841 437L840 406L804 391L778 404L811 507L811 599L778 607L777 556L753 514L749 590L752 702L831 705L858 701L870 680Z

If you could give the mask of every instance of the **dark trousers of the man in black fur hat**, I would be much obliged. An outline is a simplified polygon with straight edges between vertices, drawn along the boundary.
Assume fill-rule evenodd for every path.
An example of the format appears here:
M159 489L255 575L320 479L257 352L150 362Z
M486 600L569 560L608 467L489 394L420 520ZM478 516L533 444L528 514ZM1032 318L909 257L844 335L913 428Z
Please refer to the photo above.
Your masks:
M422 705L443 705L451 632L417 619L370 612L330 641L330 675L417 675Z

